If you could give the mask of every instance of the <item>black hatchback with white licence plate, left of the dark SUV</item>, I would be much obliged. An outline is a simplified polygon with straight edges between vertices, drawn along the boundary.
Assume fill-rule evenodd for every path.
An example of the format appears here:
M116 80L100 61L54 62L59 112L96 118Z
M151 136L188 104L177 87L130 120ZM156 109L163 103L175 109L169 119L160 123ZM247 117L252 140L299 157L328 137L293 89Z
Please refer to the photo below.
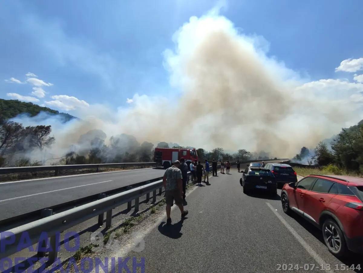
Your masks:
M262 167L248 167L242 172L240 184L243 186L243 192L247 193L251 190L268 191L273 195L277 195L276 178L272 172Z

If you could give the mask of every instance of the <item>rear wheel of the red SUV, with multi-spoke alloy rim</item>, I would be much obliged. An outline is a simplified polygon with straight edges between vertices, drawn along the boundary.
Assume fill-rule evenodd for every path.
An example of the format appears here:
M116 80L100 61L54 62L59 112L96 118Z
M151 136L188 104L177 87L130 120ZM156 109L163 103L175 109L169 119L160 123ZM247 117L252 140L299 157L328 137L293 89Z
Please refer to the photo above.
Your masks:
M332 219L325 220L323 224L323 238L329 251L336 257L342 257L347 252L347 246L337 222Z

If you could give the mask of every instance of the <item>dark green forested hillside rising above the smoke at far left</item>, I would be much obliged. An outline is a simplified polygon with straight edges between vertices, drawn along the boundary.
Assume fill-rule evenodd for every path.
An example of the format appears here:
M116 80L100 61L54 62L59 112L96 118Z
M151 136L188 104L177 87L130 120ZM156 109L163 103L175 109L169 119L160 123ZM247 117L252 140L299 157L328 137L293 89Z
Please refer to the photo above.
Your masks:
M41 111L48 112L54 115L61 115L64 121L69 121L76 118L70 114L60 113L56 110L50 109L48 107L41 107L31 102L21 102L15 99L0 99L0 122L15 118L17 115L22 113L28 113L30 117L34 117Z

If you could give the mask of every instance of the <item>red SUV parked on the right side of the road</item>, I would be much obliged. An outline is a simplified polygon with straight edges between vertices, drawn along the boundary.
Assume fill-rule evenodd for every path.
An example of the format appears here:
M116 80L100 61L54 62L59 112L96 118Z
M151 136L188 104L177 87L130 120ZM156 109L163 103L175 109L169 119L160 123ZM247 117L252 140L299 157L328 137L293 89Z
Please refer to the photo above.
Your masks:
M282 209L304 216L323 232L331 253L363 251L363 178L341 175L309 175L285 184Z

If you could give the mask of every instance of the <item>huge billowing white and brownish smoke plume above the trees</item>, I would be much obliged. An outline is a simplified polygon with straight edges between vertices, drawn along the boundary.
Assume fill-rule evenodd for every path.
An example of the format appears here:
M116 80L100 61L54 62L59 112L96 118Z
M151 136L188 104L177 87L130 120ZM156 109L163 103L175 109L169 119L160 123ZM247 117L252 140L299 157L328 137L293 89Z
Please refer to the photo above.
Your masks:
M341 80L308 82L268 57L269 44L246 36L214 9L191 17L164 52L172 99L135 94L116 113L103 105L82 110L82 120L53 126L52 153L61 156L89 130L127 133L207 150L264 150L290 157L362 119L363 85ZM155 90L157 91L157 90ZM25 124L26 125L26 124Z

